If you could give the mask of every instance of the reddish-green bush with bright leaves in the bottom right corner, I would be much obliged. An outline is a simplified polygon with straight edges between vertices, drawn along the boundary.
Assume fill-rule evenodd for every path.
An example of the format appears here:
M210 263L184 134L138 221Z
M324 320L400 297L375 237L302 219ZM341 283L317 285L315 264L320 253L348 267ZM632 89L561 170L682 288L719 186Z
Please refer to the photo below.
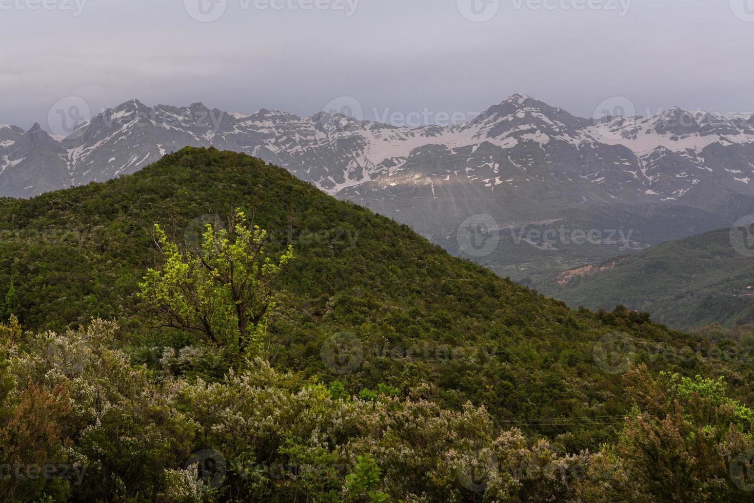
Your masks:
M752 411L725 396L719 380L646 367L627 373L636 404L618 443L592 462L610 483L582 483L588 501L751 501L734 464L754 457ZM597 468L596 468L597 469Z

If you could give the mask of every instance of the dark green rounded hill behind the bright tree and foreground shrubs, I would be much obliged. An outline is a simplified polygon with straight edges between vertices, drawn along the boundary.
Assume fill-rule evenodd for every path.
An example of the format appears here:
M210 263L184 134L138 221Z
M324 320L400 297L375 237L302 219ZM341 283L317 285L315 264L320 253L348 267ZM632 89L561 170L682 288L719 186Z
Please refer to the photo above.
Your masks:
M12 284L17 298L7 314L28 330L114 319L131 337L167 344L169 333L145 328L136 299L155 264L152 226L181 243L204 216L235 207L296 252L270 327L274 363L335 379L320 353L345 333L366 360L343 378L354 390L432 376L455 406L474 398L501 419L621 413L616 399L598 399L610 378L593 361L594 343L615 330L653 342L687 337L634 314L573 312L285 170L204 149L122 179L5 201L0 225L12 238L2 242L0 291ZM391 355L417 346L420 357ZM473 357L454 359L450 348Z

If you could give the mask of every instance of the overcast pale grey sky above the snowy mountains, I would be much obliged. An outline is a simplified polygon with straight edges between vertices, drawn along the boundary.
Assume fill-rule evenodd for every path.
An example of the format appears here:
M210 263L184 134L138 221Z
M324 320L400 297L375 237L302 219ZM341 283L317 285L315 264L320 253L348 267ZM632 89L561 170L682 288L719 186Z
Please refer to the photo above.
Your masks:
M641 115L754 110L754 0L0 0L0 32L0 123L24 128L72 96L298 115L351 96L367 118L516 91L582 116L614 96Z

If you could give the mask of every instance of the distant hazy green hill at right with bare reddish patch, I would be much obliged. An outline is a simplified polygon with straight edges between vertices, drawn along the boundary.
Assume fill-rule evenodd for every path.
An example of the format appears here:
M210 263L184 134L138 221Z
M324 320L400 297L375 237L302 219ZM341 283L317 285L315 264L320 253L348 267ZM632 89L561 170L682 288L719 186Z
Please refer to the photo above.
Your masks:
M748 287L754 285L754 259L734 250L729 233L722 229L669 241L582 269L582 274L551 276L536 287L569 305L596 309L622 304L647 311L655 321L679 330L751 322L754 290Z

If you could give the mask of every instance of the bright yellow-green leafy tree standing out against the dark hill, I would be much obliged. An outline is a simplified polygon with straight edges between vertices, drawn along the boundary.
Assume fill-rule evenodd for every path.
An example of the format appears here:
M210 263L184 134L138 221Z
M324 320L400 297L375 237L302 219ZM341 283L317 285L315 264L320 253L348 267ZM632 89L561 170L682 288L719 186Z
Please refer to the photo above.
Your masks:
M139 287L164 326L217 344L237 342L241 353L258 352L274 305L273 281L293 258L293 247L273 260L266 250L267 232L250 228L241 210L228 228L207 224L197 253L181 253L159 225L155 238L163 264L150 268Z

